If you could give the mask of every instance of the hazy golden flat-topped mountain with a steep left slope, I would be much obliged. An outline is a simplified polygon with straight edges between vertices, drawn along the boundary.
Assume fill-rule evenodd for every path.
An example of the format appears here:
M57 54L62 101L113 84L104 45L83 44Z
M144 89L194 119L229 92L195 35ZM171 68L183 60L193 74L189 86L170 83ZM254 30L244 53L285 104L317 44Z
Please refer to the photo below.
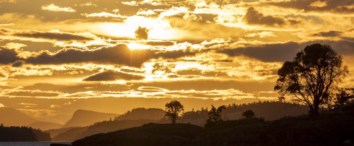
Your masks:
M110 118L114 118L118 116L118 114L112 113L100 113L95 111L88 110L77 110L72 115L72 118L66 122L62 127L83 127L89 126L93 123L109 120Z

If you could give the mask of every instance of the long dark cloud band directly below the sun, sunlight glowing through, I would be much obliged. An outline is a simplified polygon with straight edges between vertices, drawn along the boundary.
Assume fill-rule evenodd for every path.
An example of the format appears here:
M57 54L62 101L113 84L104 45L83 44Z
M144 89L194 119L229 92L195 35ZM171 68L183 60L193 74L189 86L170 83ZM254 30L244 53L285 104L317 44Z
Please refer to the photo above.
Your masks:
M146 49L130 50L125 44L113 47L103 47L100 49L62 49L52 54L41 52L36 56L25 59L31 64L65 64L93 62L99 64L121 64L140 67L144 62L152 58L179 58L183 56L195 55L195 52L186 50L160 51L155 52ZM18 60L18 59L16 59Z

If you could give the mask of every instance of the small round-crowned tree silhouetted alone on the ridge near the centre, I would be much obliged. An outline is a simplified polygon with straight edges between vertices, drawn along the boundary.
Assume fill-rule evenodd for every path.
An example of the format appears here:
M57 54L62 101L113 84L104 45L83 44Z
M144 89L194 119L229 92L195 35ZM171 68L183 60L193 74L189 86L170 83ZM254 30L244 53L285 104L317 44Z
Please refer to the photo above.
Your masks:
M165 105L166 116L171 118L172 124L176 123L176 118L184 110L184 106L181 102L176 100L172 100Z

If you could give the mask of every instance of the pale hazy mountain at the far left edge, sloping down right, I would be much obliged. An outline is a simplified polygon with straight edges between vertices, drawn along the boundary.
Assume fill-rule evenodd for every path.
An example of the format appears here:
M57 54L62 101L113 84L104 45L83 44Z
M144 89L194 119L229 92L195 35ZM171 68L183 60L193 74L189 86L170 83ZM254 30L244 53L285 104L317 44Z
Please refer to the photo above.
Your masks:
M37 120L13 108L0 108L0 123L6 126L24 126Z

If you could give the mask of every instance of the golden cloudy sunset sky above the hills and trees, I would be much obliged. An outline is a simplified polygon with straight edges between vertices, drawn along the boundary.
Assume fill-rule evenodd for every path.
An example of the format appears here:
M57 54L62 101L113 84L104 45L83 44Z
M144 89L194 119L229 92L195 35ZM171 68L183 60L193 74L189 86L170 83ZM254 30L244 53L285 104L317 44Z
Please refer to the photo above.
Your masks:
M124 113L277 100L277 71L329 44L354 86L354 1L0 0L0 107L63 123Z

